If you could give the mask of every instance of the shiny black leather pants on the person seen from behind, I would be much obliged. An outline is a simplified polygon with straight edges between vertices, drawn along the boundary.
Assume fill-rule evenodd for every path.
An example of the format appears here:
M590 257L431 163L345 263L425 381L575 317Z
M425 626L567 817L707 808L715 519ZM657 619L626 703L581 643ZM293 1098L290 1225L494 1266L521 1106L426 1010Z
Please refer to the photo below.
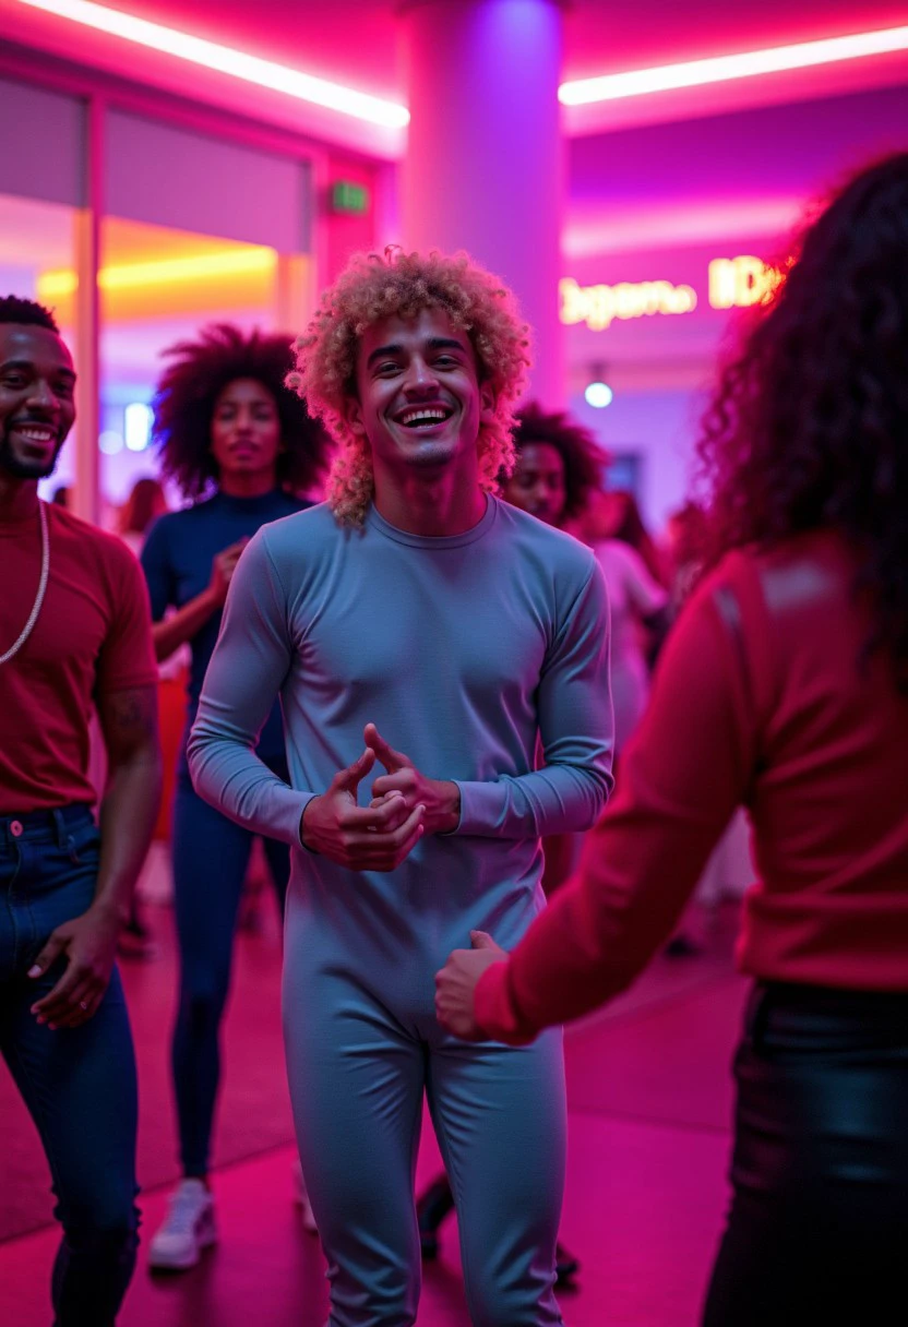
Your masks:
M759 985L704 1327L908 1322L908 993Z

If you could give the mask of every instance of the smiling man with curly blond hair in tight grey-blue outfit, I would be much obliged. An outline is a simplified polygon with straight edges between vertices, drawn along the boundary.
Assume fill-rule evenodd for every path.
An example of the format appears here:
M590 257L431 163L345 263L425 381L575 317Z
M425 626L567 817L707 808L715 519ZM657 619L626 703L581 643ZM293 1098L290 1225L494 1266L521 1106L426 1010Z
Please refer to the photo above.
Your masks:
M562 1320L560 1034L465 1047L433 1006L451 947L524 934L542 835L612 782L601 573L494 495L527 345L465 255L353 259L291 377L339 443L328 502L240 557L190 739L202 796L293 847L284 1038L332 1327L416 1322L423 1095L474 1324ZM289 787L254 750L277 693Z

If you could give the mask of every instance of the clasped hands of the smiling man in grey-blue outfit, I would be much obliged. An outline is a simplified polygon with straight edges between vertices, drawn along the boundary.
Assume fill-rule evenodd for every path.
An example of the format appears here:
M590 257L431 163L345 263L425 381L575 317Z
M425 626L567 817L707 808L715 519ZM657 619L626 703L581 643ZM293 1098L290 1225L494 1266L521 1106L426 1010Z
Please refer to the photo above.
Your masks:
M396 871L423 833L457 828L461 794L455 783L429 779L409 756L394 751L374 723L366 723L365 751L307 804L300 839L312 852L349 871ZM357 805L360 783L376 764L385 774L372 784L372 802Z

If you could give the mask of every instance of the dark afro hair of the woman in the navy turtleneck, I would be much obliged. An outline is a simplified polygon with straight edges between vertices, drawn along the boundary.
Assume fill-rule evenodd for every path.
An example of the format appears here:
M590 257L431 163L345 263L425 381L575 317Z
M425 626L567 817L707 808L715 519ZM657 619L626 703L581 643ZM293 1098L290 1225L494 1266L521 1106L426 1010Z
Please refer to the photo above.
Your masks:
M293 365L291 336L258 329L242 332L230 322L203 328L196 341L178 341L163 352L171 362L158 382L153 441L163 474L186 498L200 498L218 482L211 455L211 418L218 397L238 378L254 378L275 398L284 450L277 456L277 483L305 492L321 478L328 460L328 434L284 386Z

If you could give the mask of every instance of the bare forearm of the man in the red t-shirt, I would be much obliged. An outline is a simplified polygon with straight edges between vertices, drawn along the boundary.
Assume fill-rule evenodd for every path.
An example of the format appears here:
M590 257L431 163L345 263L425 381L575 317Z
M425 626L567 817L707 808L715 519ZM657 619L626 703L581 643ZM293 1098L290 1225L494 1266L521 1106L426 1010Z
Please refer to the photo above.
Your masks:
M94 908L129 920L161 803L161 754L150 747L110 770L101 802L101 865Z

